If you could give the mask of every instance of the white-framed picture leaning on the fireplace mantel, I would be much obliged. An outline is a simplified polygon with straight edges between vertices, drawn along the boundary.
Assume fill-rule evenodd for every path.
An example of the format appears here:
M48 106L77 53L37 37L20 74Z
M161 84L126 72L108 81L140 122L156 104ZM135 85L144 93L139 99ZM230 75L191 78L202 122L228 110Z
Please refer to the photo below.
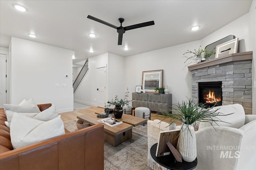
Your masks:
M216 46L215 58L222 57L225 55L237 53L238 49L238 38L227 41Z

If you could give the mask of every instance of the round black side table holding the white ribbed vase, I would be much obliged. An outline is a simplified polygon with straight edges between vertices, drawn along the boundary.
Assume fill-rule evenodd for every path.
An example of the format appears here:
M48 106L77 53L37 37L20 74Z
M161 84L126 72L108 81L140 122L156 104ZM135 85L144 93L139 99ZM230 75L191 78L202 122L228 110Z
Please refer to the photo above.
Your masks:
M182 162L177 162L172 153L169 155L156 157L156 147L157 143L152 145L150 148L150 154L158 164L164 166L165 168L171 170L192 170L196 168L197 158L193 162L186 162L185 160L182 160Z

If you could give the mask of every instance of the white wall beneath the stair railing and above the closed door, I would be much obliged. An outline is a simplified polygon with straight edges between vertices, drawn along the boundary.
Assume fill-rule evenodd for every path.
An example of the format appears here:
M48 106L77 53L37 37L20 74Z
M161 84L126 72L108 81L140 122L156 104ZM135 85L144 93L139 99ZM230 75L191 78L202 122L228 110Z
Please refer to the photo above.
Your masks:
M108 53L88 59L89 70L74 94L74 102L97 106L97 68L106 67L107 63Z

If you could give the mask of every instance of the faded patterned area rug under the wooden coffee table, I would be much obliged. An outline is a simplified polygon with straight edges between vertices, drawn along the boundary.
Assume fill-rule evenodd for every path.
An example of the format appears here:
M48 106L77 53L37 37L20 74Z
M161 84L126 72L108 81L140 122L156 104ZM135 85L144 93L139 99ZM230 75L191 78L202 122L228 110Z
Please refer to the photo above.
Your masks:
M64 127L70 132L78 130L76 120L64 122ZM104 170L151 170L147 157L147 125L132 127L132 138L116 147L104 142Z

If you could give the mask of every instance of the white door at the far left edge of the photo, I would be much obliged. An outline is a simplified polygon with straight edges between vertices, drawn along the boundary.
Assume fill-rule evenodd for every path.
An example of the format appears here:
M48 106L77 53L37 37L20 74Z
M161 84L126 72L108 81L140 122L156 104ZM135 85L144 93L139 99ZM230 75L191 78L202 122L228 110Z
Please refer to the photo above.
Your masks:
M6 55L0 54L0 108L6 104Z

